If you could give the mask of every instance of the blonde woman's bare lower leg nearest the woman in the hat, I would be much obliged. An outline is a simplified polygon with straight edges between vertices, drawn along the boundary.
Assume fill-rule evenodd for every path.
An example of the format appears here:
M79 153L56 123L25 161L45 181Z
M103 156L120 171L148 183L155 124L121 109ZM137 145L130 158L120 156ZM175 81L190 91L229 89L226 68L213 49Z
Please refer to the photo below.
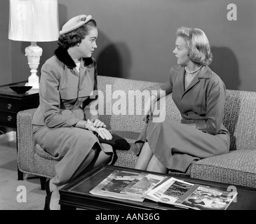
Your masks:
M137 163L135 165L135 169L147 169L149 161L151 160L153 153L149 148L149 143L145 142L142 146L142 150L140 152L139 158L137 158Z

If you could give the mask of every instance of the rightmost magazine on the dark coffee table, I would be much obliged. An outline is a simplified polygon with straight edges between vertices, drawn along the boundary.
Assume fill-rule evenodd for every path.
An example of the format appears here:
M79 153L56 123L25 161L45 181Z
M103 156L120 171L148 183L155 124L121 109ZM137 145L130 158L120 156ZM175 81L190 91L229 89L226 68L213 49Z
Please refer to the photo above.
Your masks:
M200 210L226 210L237 195L234 192L222 191L197 184L189 190L189 193L181 204Z

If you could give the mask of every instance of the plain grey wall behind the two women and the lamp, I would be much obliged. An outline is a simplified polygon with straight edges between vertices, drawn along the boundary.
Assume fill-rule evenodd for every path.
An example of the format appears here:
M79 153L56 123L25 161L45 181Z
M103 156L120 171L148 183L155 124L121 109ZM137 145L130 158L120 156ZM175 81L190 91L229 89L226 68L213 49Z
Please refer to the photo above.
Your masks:
M214 57L210 67L226 87L256 91L255 0L59 0L58 3L60 27L79 14L91 14L97 21L99 37L94 57L100 75L164 82L170 66L176 64L172 53L175 31L181 26L197 27L209 38ZM236 4L237 20L227 19L230 3ZM56 43L38 44L43 48L43 64L53 55ZM27 45L11 41L13 82L28 76L23 53Z

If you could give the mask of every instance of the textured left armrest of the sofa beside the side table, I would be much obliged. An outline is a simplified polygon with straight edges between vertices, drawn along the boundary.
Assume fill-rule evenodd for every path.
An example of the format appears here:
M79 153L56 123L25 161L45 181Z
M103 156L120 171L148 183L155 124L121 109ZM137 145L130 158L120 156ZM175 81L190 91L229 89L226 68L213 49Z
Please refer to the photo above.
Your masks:
M36 109L17 113L17 162L20 171L34 167L35 141L32 134L32 118Z

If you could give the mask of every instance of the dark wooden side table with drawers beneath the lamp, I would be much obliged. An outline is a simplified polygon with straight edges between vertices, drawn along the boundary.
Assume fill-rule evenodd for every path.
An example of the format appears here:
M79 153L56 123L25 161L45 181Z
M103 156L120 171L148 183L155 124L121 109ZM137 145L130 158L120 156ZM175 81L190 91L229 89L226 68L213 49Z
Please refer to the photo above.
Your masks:
M25 83L27 82L0 85L0 126L16 129L17 113L39 106L39 90L31 89L25 93L18 94L9 88L11 85L25 85ZM23 173L19 169L18 180L23 180Z

